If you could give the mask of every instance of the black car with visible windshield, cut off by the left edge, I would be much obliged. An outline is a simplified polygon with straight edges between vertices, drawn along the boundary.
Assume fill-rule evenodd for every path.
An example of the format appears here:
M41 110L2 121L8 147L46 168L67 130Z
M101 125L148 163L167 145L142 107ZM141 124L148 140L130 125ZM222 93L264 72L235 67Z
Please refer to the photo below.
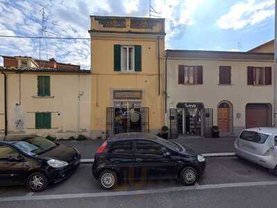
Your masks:
M8 136L0 141L0 184L26 184L43 191L69 177L80 164L80 153L35 135Z

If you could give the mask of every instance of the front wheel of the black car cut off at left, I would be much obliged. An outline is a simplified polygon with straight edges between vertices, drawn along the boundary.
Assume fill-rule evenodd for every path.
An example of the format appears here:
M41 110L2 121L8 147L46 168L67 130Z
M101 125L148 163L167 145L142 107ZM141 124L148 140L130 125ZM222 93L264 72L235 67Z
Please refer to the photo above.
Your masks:
M30 189L30 191L44 191L44 189L48 186L47 177L43 173L32 173L26 181L26 186Z

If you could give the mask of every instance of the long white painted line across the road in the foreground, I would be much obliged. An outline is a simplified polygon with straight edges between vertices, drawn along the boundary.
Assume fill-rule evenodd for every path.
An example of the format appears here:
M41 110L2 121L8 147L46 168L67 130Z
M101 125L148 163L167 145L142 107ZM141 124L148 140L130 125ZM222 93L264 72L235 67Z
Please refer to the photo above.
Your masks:
M21 201L21 200L57 200L66 198L99 198L109 196L133 196L139 194L151 194L151 193L168 193L175 191L189 191L189 190L204 190L204 189L223 189L232 187L256 187L256 186L270 186L277 185L277 181L265 181L265 182L242 182L232 184L207 184L196 185L193 187L171 187L166 189L144 189L136 191L107 191L100 193L70 193L70 194L58 194L58 195L42 195L42 196L15 196L15 197L3 197L0 198L0 202Z

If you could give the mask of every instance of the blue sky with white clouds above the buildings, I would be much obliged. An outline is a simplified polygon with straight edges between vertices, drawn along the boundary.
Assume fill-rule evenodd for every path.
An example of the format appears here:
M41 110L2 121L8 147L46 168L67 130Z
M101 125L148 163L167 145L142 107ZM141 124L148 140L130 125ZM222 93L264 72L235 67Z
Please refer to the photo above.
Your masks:
M89 15L149 17L149 0L0 0L0 35L88 37ZM166 49L248 51L274 39L274 0L152 0ZM42 40L41 58L90 69L89 40ZM39 40L0 37L0 55L39 58ZM3 59L0 58L0 66Z

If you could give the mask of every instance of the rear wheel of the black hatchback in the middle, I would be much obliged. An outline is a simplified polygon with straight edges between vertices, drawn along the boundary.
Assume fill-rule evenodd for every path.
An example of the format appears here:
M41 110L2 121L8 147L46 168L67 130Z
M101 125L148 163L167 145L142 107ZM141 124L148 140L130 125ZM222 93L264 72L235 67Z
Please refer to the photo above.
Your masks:
M103 171L98 178L102 189L114 189L117 185L117 175L114 171Z

